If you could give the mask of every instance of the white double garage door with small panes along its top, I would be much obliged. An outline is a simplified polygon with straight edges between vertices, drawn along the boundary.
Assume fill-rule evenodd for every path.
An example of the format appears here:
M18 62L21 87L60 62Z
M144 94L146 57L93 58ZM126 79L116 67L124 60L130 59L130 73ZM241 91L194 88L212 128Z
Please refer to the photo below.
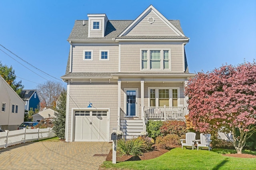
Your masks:
M108 141L108 111L75 111L75 141Z

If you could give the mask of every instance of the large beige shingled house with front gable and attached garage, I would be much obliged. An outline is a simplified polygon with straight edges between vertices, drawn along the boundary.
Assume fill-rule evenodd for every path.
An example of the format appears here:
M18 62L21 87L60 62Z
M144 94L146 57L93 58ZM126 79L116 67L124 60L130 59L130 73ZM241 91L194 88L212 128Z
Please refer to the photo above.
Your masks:
M112 129L129 138L149 119L184 119L188 43L178 20L150 5L135 20L88 14L68 37L66 131L70 141L110 141Z

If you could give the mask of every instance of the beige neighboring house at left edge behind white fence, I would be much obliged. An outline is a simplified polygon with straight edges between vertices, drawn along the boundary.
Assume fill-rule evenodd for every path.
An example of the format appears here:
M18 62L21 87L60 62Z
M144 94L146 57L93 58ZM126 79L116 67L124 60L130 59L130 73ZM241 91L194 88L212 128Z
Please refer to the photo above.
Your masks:
M24 102L11 86L0 76L0 128L17 130L24 121Z

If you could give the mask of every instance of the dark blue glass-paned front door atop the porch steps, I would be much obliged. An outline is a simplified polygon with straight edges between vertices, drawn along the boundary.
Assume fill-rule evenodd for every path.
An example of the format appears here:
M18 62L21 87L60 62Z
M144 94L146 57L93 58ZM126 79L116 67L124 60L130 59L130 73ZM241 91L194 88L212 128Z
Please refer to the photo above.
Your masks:
M126 115L136 116L136 90L126 91Z

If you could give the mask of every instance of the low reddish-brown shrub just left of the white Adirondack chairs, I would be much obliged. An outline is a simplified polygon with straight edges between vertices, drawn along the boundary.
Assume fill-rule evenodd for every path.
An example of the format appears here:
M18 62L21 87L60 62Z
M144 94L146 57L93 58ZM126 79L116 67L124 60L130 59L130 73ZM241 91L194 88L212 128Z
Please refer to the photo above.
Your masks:
M182 136L183 137L183 136ZM168 134L164 137L156 138L156 146L160 149L172 149L180 146L180 139L176 134Z

